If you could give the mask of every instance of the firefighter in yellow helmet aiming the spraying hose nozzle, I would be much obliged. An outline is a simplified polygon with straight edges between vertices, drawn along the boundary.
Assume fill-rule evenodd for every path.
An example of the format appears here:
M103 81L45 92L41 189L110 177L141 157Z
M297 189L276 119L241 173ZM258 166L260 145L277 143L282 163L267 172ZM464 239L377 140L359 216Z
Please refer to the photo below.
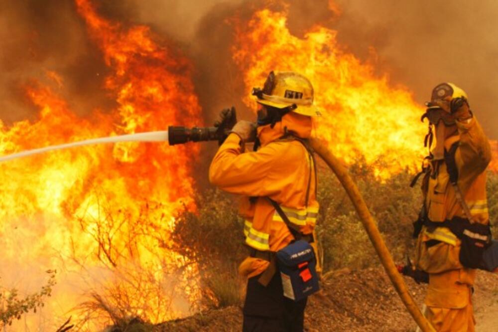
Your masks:
M212 161L209 179L242 196L239 212L249 247L249 257L239 267L248 278L243 330L301 332L306 299L296 302L283 296L274 254L296 236L315 244L316 167L305 141L318 114L313 87L300 74L271 72L263 89L253 89L252 94L257 123L240 121L233 127ZM247 152L245 143L253 140L254 151ZM283 210L290 227L272 202Z

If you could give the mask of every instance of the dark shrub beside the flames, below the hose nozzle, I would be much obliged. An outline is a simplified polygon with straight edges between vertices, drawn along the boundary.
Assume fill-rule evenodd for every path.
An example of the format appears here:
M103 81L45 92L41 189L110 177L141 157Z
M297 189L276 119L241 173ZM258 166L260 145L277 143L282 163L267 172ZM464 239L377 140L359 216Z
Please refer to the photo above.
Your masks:
M175 250L198 264L204 305L239 304L244 280L236 267L248 251L237 204L219 190L206 190L196 194L196 205L197 211L185 207L177 217L173 232Z

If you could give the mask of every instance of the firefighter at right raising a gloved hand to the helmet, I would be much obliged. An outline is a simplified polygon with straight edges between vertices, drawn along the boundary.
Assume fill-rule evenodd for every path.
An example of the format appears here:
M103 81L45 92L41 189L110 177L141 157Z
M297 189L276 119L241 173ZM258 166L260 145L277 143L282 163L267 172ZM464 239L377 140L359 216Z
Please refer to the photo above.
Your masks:
M426 105L422 120L429 120L430 154L415 224L415 265L429 276L425 316L436 331L475 331L472 286L491 238L486 197L491 147L456 85L437 85Z

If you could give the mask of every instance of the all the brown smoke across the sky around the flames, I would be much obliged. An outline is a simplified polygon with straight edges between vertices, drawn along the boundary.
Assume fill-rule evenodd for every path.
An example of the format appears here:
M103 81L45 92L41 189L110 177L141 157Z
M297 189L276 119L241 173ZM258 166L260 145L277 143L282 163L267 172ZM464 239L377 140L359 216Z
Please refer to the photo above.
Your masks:
M461 86L487 134L498 136L494 114L498 103L496 71L498 4L468 2L336 0L287 1L289 29L302 35L313 24L338 30L338 39L360 58L372 60L379 75L403 84L423 103L432 88L445 81ZM143 23L177 43L194 62L194 83L206 123L224 107L236 106L241 117L252 116L241 102L249 93L233 64L234 16L249 17L263 6L282 9L280 1L123 0L98 1L99 11L124 24ZM0 117L7 123L30 118L22 85L47 80L46 71L64 79L59 94L78 114L112 109L114 99L103 89L107 67L88 39L72 1L20 0L0 5ZM270 70L271 68L268 68ZM54 84L57 88L57 84ZM318 92L319 93L319 92ZM395 111L395 110L393 110Z

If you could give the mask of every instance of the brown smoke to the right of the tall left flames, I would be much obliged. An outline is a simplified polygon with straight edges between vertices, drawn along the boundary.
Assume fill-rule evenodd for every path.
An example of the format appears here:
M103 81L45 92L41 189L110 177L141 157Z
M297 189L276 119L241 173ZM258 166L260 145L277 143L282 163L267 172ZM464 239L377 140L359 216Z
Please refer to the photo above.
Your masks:
M130 1L136 6L134 19L180 41L193 59L207 123L231 105L242 116L252 114L240 101L248 91L231 61L233 29L227 20L247 18L263 6L281 9L280 1ZM498 138L497 2L336 0L339 15L327 0L286 3L293 34L303 35L314 24L338 30L342 45L363 60L374 60L378 75L407 86L420 104L441 82L459 85L488 136Z

